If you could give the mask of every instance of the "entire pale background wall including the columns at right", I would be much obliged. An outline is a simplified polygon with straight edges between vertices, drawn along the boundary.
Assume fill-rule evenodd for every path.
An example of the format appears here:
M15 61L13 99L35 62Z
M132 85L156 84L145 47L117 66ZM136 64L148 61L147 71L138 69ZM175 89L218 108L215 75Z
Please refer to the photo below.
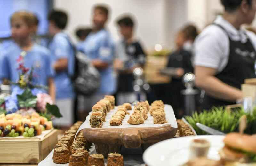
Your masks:
M98 3L107 4L112 10L108 29L115 41L119 39L116 18L132 13L137 20L136 35L147 50L157 43L173 49L179 28L194 23L202 30L223 12L220 0L54 0L53 7L68 12L67 30L76 41L75 29L91 25L92 8Z

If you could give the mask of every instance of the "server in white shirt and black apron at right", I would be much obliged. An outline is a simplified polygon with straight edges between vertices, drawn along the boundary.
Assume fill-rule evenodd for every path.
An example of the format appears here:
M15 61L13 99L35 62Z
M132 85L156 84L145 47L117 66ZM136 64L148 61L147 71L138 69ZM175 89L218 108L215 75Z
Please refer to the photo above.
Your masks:
M225 8L195 41L196 86L205 90L203 109L236 104L241 84L255 78L256 35L241 27L255 17L255 0L221 0Z

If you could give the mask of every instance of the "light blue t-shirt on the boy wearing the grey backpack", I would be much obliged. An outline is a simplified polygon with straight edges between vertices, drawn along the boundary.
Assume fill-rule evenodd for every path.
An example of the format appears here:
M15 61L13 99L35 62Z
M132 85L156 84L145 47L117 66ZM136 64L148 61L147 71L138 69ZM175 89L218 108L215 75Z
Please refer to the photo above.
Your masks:
M68 35L63 31L55 34L49 45L49 49L52 53L53 62L62 58L68 59L67 70L56 72L54 76L56 98L74 98L75 94L70 77L74 75L75 55Z

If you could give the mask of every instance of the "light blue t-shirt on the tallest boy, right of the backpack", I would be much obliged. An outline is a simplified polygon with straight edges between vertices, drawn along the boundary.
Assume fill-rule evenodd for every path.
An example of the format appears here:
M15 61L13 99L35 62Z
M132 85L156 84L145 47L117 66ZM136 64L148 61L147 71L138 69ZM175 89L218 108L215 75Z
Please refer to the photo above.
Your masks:
M112 62L114 59L114 42L107 30L91 32L84 41L84 53L91 60L100 59L107 62L106 69L99 69L101 75L98 94L113 94L116 91L116 80L113 75Z

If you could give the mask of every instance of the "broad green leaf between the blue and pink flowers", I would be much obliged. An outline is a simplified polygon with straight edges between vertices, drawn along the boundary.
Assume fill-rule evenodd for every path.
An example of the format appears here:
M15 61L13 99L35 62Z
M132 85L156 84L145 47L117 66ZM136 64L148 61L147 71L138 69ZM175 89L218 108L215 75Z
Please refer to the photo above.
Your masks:
M36 96L34 96L29 88L26 88L21 95L17 95L18 103L21 108L36 107Z

